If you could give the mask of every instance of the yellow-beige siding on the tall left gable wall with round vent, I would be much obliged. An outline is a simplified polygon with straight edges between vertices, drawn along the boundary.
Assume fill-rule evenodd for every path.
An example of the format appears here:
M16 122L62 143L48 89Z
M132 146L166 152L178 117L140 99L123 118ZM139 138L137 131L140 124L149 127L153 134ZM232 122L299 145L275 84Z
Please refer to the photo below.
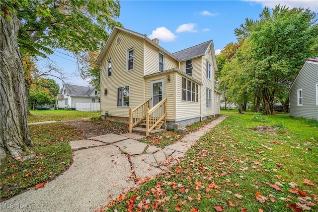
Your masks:
M120 36L120 43L116 38ZM129 117L129 108L135 108L144 102L144 40L119 31L110 44L101 62L101 114L108 111L110 116ZM134 46L134 70L126 72L126 52ZM112 60L111 77L106 78L106 61ZM129 107L117 106L117 88L130 86ZM104 96L104 89L108 94Z

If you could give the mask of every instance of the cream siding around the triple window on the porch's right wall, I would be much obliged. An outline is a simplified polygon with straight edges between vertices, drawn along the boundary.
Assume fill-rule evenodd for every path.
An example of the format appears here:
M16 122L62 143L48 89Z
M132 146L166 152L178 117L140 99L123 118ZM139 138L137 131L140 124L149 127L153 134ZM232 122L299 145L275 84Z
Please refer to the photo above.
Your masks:
M175 72L174 74L176 81L175 81L175 101L176 101L176 120L192 118L192 117L200 117L200 96L201 96L201 86L198 85L198 92L199 92L199 102L186 102L182 101L182 76ZM190 80L190 79L188 79ZM190 80L191 81L191 80Z

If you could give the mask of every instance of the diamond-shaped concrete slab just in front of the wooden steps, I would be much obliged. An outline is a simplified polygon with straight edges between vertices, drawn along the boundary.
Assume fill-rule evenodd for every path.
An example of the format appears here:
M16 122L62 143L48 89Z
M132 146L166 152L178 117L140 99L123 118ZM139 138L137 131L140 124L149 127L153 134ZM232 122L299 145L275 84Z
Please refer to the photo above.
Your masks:
M113 145L118 146L122 151L129 155L139 155L145 151L147 147L146 143L134 140L134 139L127 139L123 141L119 141L114 143Z

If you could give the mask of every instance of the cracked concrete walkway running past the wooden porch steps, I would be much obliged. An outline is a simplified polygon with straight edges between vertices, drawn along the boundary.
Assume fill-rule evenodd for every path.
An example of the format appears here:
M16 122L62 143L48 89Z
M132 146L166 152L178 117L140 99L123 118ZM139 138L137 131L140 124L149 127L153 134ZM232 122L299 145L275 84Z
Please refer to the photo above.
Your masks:
M137 141L143 136L132 133L71 141L74 162L70 169L45 184L45 188L32 188L2 202L1 211L86 212L99 209L123 190L133 187L136 177L153 177L173 165L175 159L184 157L201 136L226 117L220 116L164 148Z

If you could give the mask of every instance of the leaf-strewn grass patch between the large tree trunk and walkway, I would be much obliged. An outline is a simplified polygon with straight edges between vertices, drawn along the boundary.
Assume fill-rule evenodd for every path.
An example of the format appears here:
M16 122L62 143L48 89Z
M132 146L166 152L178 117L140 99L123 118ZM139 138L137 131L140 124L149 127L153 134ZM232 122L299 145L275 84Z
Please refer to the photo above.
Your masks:
M83 139L79 130L62 123L30 125L29 132L34 145L24 154L34 157L23 162L7 157L1 164L1 201L67 170L73 153L68 141Z

